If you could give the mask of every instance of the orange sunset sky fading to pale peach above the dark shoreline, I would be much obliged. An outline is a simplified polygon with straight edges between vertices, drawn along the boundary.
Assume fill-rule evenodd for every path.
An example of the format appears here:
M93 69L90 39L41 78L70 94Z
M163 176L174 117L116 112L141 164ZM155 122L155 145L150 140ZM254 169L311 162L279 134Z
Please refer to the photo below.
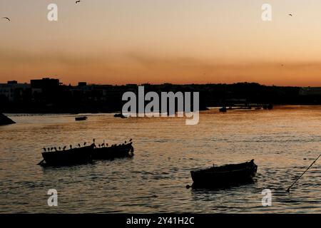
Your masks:
M0 21L0 82L321 86L320 10L320 0L1 0L11 22Z

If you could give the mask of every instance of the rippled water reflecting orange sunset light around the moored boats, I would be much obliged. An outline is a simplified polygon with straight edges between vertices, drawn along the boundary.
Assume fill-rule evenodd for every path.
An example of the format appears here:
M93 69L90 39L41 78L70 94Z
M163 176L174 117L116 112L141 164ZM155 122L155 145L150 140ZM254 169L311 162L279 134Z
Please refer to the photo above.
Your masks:
M9 115L0 127L0 212L321 212L321 160L292 192L286 187L321 152L321 107L201 113L198 125L182 118L116 119L112 114ZM42 147L133 138L131 159L42 168ZM187 190L190 170L255 159L251 185ZM272 190L272 207L261 192ZM58 207L47 205L49 189Z

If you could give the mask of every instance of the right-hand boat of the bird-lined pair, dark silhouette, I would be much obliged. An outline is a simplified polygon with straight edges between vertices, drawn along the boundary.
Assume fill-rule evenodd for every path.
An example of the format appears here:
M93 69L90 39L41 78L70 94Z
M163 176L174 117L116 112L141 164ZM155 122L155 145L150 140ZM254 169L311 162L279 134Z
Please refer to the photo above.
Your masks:
M121 157L133 156L133 142L111 147L95 147L93 149L93 160L113 160Z

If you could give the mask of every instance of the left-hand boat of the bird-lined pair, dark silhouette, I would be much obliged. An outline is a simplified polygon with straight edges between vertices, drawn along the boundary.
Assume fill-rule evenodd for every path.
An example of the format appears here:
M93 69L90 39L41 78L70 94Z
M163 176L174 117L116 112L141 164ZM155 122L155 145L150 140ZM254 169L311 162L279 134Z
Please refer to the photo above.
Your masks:
M66 166L66 165L80 165L92 162L94 145L87 147L73 148L70 150L59 150L42 152L44 160L39 162L41 166Z

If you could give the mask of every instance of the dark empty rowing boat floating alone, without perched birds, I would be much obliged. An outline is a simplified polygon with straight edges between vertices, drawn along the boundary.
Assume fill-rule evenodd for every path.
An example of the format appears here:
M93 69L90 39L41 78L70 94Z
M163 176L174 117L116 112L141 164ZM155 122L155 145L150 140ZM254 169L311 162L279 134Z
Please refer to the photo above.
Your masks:
M213 166L209 169L191 171L193 187L230 187L253 181L258 165L250 162Z

